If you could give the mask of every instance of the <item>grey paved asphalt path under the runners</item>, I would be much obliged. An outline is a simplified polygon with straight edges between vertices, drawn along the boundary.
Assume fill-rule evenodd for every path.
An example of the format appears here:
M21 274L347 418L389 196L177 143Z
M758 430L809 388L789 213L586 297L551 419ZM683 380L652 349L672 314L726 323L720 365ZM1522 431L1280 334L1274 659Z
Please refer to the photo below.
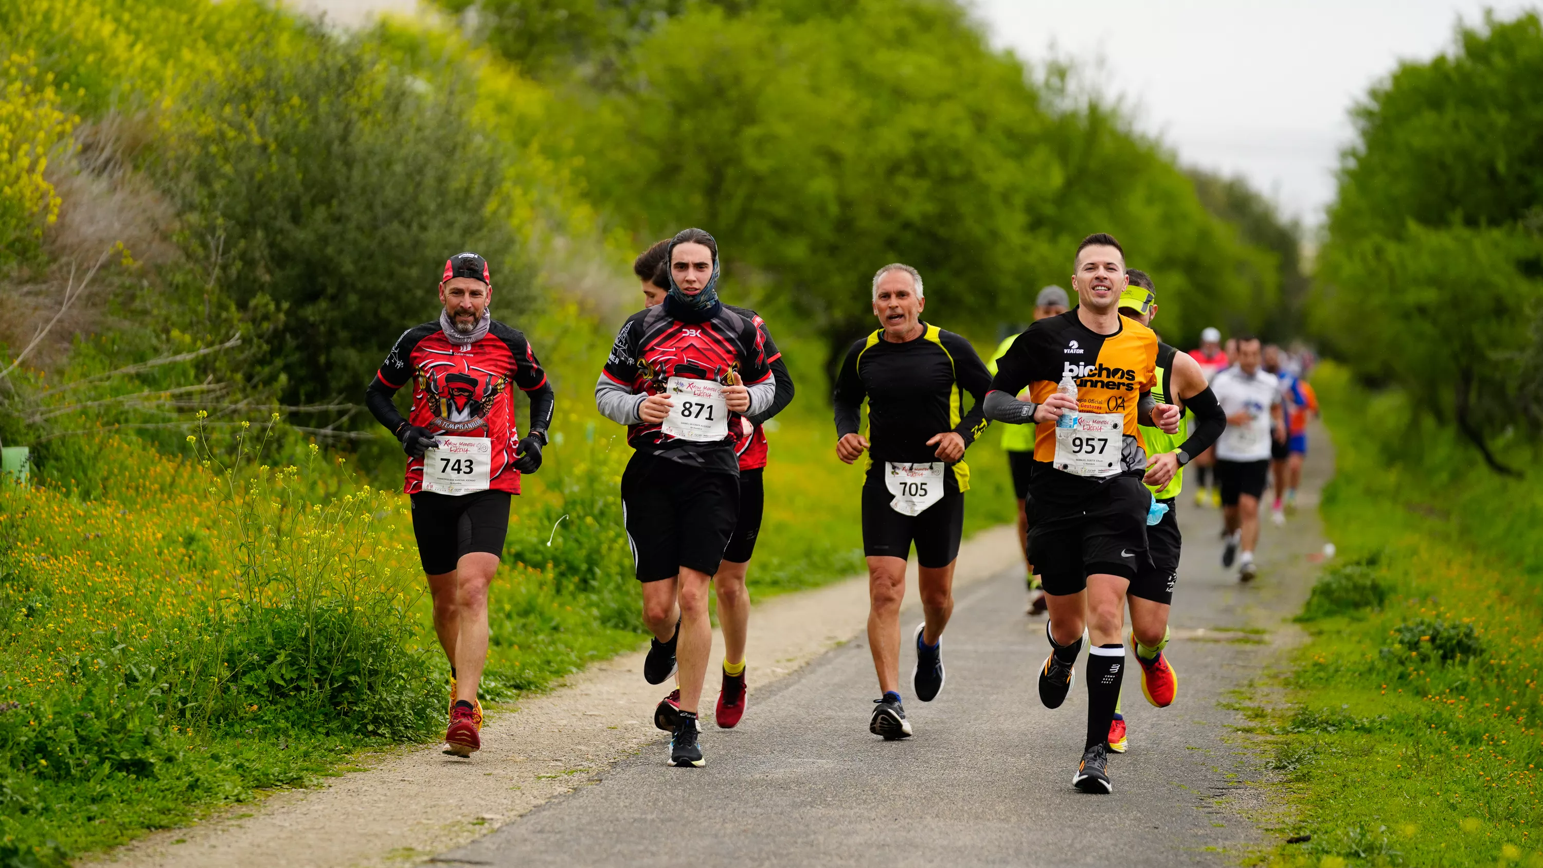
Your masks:
M1258 757L1217 706L1271 658L1312 583L1322 547L1316 503L1330 472L1315 432L1302 509L1265 526L1261 577L1241 586L1219 564L1219 512L1180 498L1185 553L1170 646L1179 700L1151 708L1140 672L1125 678L1131 749L1114 755L1111 796L1071 788L1082 755L1086 689L1057 711L1038 701L1045 620L1023 612L1017 570L964 589L943 637L947 683L932 703L909 689L917 731L867 731L878 695L866 637L773 688L755 691L739 728L710 722L707 768L665 766L668 740L617 763L437 862L471 865L1225 865L1262 840L1231 792ZM907 612L904 635L918 623ZM753 626L753 624L751 624ZM1270 631L1273 641L1261 643ZM909 643L906 643L909 644ZM1079 675L1085 666L1079 663ZM710 692L716 698L716 692ZM710 706L705 706L710 709ZM642 714L642 712L640 712ZM1256 792L1256 791L1253 791ZM1222 849L1231 848L1231 859Z

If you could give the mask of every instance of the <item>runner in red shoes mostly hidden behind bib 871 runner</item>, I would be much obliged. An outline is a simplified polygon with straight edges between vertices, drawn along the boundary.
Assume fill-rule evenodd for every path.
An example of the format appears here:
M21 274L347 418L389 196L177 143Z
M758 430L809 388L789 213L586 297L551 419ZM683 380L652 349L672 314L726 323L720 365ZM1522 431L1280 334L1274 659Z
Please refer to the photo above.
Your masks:
M663 304L670 290L670 270L665 257L670 251L670 239L660 241L640 253L633 262L633 273L642 276L653 274L643 281L643 307ZM734 523L734 535L724 550L724 563L713 577L713 590L717 594L717 621L724 629L724 686L717 694L714 720L724 729L733 729L745 714L745 640L750 631L750 592L745 589L745 572L750 569L750 555L756 549L756 537L761 535L761 515L765 512L765 486L762 476L767 466L767 435L762 426L776 416L793 401L793 378L787 373L782 353L778 352L767 330L765 321L756 311L725 304L724 308L744 316L761 330L765 342L767 362L772 365L772 376L776 378L776 401L765 413L742 418L742 433L734 450L739 453L739 520ZM654 709L654 726L674 732L676 711L680 708L679 688L660 700Z

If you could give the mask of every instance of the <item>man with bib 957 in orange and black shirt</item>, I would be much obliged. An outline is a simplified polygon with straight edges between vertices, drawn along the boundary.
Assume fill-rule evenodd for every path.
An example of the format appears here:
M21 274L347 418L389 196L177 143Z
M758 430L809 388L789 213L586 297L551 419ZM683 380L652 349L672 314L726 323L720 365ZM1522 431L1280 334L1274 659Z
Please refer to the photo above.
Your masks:
M1179 409L1151 396L1157 336L1119 313L1126 288L1120 242L1105 233L1085 237L1072 288L1075 310L1029 325L1000 359L986 416L1037 426L1029 557L1045 580L1051 643L1040 701L1060 708L1066 700L1086 626L1088 728L1072 786L1109 792L1106 740L1125 669L1125 594L1150 560L1153 498L1142 486L1146 450L1137 424L1174 433ZM1028 401L1017 398L1023 387Z

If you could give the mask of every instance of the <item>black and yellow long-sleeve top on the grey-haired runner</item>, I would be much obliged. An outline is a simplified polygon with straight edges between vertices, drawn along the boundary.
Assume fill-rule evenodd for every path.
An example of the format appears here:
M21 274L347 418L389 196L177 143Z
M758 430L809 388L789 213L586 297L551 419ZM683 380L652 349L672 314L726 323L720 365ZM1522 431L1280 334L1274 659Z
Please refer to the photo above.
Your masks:
M867 399L870 463L937 461L937 446L927 446L935 435L954 432L969 447L986 430L986 364L964 338L921 325L921 336L904 344L886 341L883 328L853 342L836 375L836 438L861 433ZM967 413L966 392L974 401ZM952 470L944 478L947 489L969 490L969 466L958 461Z

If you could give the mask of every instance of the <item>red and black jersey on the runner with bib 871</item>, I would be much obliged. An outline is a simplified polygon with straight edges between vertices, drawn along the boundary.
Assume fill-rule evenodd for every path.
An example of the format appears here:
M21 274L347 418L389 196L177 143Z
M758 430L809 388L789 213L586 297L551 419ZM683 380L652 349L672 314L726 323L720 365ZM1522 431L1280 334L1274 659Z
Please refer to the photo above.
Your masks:
M728 382L728 375L738 370L745 385L755 385L772 376L768 365L765 333L750 319L724 307L705 322L680 322L660 304L626 318L616 333L603 373L631 389L633 395L659 395L671 376ZM628 426L626 441L633 449L659 458L739 473L736 439L745 436L739 419L739 413L731 413L730 436L716 442L673 438L659 430L659 424L650 422Z

